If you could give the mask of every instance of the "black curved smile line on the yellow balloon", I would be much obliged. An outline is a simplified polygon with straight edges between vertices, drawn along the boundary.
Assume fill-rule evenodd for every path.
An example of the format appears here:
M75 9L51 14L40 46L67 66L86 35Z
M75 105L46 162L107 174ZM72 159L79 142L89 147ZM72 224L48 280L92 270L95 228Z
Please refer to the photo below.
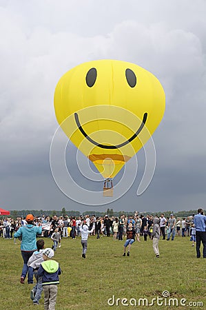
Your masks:
M119 147L123 147L127 145L128 143L132 142L136 138L136 136L138 136L141 130L143 130L143 127L147 121L147 113L145 112L145 114L143 115L143 121L140 127L138 127L138 130L135 132L135 134L133 134L133 136L131 136L127 141L119 145L103 145L103 144L99 144L98 142L94 141L92 138L90 138L90 136L87 135L87 133L83 130L83 127L81 126L81 123L79 121L79 116L77 113L74 113L74 117L75 117L76 125L81 131L81 133L83 134L83 136L85 136L85 138L87 138L87 140L90 141L92 144L96 145L97 147L101 147L101 149L119 149Z

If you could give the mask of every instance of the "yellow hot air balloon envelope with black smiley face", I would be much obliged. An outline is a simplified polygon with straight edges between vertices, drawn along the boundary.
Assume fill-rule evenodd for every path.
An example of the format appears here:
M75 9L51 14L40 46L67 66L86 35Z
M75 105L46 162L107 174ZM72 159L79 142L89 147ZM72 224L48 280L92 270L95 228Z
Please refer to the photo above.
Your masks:
M165 93L152 73L134 63L90 61L61 77L54 109L70 141L108 180L158 127Z

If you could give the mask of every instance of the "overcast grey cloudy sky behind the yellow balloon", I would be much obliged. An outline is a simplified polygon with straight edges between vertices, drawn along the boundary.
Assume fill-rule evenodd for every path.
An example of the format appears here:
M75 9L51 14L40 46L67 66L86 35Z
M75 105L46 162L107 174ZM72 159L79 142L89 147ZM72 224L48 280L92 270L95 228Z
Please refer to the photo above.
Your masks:
M204 0L0 0L0 207L205 208L205 15ZM129 61L152 72L164 87L166 110L153 135L156 170L147 190L136 196L145 164L141 150L130 190L109 205L91 207L75 203L54 182L50 144L58 127L56 83L74 66L96 59ZM69 144L68 152L72 158L75 147ZM72 160L68 167L87 186ZM101 190L102 184L89 186Z

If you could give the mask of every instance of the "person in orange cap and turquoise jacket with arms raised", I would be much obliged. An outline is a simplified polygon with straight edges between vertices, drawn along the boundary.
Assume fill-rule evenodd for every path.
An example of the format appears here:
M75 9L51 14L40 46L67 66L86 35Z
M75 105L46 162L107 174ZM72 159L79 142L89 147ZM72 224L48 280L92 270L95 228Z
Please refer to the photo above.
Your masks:
M28 273L28 284L33 283L33 272L28 268L28 260L37 250L37 234L41 235L42 227L33 225L34 216L28 214L25 218L27 225L21 226L14 234L14 238L21 237L21 256L23 258L23 269L21 272L21 284L24 284L25 277Z

